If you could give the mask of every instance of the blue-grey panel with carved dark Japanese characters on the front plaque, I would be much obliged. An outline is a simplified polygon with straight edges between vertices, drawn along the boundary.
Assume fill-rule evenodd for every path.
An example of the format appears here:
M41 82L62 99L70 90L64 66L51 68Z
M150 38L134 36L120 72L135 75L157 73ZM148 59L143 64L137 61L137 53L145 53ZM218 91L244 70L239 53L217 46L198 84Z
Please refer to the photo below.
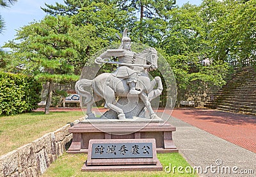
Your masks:
M92 159L152 158L152 143L93 143Z

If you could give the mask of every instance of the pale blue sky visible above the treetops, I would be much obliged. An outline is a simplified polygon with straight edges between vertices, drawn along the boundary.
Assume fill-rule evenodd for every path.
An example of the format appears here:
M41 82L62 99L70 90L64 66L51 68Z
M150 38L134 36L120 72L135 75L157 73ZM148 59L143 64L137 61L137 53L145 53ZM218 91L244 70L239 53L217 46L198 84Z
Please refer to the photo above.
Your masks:
M46 13L40 7L46 7L47 4L55 4L55 2L64 4L63 0L18 0L17 3L10 8L0 8L0 14L5 22L4 31L0 34L0 47L4 43L15 38L16 30L29 22L42 20ZM179 6L184 3L200 4L202 0L176 0Z

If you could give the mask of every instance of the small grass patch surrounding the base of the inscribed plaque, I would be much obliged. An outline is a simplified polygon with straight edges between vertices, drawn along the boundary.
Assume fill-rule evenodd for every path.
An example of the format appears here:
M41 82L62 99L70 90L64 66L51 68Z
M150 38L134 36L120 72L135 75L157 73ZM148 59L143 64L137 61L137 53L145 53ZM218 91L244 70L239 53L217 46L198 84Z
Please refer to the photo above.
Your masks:
M179 153L159 153L157 158L160 160L163 171L131 171L131 172L81 172L81 167L86 160L86 154L67 154L65 153L55 162L53 162L49 169L42 175L48 176L198 176L194 173L166 173L164 167L170 166L189 166L188 162ZM189 166L190 167L190 166Z

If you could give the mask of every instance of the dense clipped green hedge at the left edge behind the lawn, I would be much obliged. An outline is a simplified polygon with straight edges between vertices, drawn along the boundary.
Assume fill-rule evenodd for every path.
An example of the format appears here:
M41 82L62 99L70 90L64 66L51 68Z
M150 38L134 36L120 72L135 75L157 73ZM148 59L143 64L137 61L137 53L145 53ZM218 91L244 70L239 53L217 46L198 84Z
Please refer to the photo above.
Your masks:
M31 76L0 72L0 115L15 115L37 108L42 85Z

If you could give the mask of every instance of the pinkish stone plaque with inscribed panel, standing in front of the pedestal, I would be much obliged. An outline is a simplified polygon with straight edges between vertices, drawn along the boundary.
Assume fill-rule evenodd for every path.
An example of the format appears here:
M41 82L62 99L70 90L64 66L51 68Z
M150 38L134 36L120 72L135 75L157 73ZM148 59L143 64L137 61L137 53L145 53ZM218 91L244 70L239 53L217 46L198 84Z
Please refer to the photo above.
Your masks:
M155 139L90 139L82 171L161 171Z

